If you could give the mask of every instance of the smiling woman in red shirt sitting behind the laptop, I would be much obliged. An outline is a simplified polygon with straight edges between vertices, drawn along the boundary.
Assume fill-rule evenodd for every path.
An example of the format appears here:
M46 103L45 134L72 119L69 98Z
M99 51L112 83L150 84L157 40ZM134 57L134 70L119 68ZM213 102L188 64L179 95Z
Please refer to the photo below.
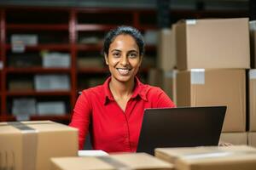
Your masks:
M111 76L94 88L84 89L73 109L70 126L79 129L79 149L90 131L94 150L135 152L147 108L175 107L160 88L136 77L143 61L142 34L119 26L105 37L103 55Z

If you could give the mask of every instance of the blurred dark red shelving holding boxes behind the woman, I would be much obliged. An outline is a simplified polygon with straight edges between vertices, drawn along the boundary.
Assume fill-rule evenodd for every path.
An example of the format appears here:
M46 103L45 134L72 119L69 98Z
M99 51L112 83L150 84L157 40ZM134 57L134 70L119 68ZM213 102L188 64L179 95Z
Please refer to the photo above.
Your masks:
M0 122L69 122L79 92L109 76L101 55L106 32L120 25L135 26L144 35L160 28L157 1L32 2L36 1L0 1ZM170 26L182 19L250 14L248 1L223 1L230 3L226 8L213 0L171 2L167 12ZM20 43L19 38L28 44ZM148 71L156 67L156 58L157 44L148 43L146 61L138 75L143 82L148 82ZM48 84L42 85L44 80ZM31 105L22 105L24 102ZM61 112L45 112L49 102L58 105L53 111L59 108ZM16 116L20 107L26 107L26 114Z

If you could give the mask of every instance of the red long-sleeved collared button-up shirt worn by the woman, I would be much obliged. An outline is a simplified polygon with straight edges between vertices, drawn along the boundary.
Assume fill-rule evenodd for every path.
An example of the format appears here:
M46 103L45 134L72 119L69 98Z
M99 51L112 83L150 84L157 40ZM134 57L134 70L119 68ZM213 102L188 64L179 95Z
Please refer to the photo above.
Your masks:
M144 109L175 105L160 88L143 84L136 78L134 92L122 111L108 88L110 80L111 77L104 84L83 91L74 107L70 126L79 128L80 150L84 148L90 125L94 150L135 152Z

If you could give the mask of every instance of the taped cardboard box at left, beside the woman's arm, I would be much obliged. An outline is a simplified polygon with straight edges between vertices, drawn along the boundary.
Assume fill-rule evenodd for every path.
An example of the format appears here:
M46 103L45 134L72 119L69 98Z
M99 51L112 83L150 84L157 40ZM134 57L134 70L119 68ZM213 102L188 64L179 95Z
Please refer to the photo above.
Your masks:
M49 122L1 122L0 169L46 170L50 157L77 156L78 130Z

